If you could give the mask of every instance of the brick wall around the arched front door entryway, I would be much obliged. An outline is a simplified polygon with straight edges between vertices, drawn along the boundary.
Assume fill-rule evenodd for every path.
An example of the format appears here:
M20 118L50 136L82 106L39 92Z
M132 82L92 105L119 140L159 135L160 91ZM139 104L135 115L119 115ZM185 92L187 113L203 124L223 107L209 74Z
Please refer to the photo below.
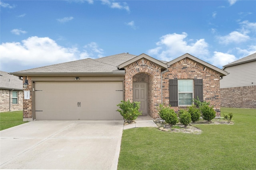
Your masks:
M128 99L130 101L133 100L133 81L148 81L148 114L154 118L158 117L157 107L161 102L161 68L143 58L126 66L124 79L125 101L128 101Z

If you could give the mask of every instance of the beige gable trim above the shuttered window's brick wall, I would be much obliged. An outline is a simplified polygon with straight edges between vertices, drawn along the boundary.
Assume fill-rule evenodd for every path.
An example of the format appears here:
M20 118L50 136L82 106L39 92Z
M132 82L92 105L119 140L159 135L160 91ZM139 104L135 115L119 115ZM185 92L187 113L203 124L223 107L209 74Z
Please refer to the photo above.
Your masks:
M208 68L211 68L211 69L215 70L216 72L219 72L221 76L226 76L228 74L226 71L224 71L224 70L222 70L222 69L220 69L220 68L218 68L216 66L213 66L212 64L206 63L205 61L202 61L202 60L200 60L200 59L198 59L198 58L196 58L196 57L194 57L194 56L192 56L192 55L190 55L188 53L186 53L186 54L184 54L184 55L182 55L182 56L180 56L180 57L178 57L178 58L176 58L176 59L174 59L174 60L172 60L172 61L170 61L170 62L168 62L166 64L172 65L172 64L174 64L174 63L176 63L176 62L178 62L178 61L180 61L182 59L185 59L186 57L191 59L191 60L194 60L197 63L200 63L200 64L202 64L204 66L207 66Z

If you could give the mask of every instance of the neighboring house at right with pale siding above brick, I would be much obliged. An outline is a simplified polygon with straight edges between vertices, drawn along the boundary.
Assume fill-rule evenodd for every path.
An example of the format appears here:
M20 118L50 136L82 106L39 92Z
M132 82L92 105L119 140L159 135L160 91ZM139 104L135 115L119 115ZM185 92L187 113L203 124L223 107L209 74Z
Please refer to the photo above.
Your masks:
M256 108L256 53L223 66L221 106Z

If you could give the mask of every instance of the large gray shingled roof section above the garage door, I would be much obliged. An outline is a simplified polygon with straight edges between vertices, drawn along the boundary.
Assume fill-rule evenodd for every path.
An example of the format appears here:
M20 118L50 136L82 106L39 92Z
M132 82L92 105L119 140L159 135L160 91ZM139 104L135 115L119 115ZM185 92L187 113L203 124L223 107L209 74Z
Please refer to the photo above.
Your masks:
M136 57L128 53L102 57L99 59L82 59L78 61L70 61L67 63L54 64L50 66L43 66L14 72L17 75L21 73L112 73L117 70L118 64Z

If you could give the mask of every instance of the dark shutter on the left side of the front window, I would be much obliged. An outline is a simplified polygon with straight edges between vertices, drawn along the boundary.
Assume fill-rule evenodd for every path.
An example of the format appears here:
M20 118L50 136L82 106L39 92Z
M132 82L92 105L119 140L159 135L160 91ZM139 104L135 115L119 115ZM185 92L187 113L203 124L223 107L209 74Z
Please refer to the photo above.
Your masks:
M169 80L169 97L170 105L178 106L178 79Z

